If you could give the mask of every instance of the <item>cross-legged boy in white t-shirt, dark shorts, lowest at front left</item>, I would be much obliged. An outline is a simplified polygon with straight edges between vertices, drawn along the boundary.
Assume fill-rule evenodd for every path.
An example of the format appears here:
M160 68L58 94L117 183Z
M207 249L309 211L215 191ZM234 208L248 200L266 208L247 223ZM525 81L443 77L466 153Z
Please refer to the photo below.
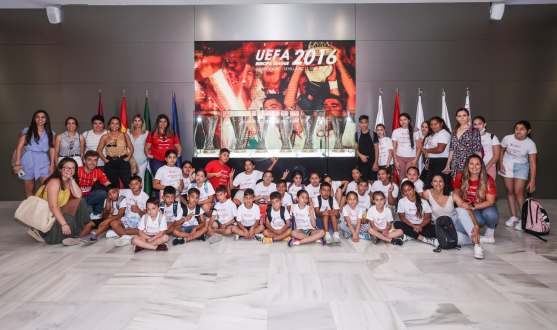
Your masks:
M147 214L143 215L139 221L137 229L139 236L132 238L132 244L135 245L134 252L143 249L155 251L167 251L168 235L166 232L166 219L160 212L160 199L151 197L147 200Z

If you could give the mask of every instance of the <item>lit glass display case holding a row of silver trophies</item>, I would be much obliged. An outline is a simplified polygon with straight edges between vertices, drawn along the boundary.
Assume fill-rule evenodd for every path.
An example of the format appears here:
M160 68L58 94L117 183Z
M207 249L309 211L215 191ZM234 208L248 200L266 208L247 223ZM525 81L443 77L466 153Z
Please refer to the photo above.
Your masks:
M350 157L354 110L238 110L194 112L194 155L214 158Z

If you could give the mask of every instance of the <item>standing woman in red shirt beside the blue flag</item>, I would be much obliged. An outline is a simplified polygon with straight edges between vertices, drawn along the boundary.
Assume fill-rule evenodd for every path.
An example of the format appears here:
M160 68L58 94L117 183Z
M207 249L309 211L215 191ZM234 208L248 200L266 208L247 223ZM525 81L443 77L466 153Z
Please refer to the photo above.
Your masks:
M166 115L159 115L155 127L147 134L145 155L149 159L149 167L153 177L162 166L166 165L164 155L168 150L175 150L178 158L182 156L182 147L178 136L170 129L170 120Z

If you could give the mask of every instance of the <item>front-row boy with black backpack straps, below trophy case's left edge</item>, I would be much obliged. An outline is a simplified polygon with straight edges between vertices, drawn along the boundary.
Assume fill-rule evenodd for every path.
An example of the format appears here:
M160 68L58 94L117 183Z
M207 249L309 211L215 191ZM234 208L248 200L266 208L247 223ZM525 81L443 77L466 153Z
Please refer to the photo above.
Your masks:
M191 188L188 191L188 203L186 204L186 216L183 218L182 227L174 229L172 235L176 237L172 245L184 244L194 239L205 241L207 224L201 205L198 205L199 190Z

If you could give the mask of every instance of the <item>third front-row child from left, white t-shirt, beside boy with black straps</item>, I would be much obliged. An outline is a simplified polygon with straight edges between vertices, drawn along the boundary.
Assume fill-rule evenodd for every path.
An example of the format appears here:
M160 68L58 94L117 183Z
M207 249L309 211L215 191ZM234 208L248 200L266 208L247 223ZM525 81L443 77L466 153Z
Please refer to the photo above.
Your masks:
M221 235L232 234L232 226L236 225L238 209L236 204L226 198L227 193L228 189L224 185L218 186L215 190L217 204L207 228L207 235L210 236L209 243L211 244L222 240Z

